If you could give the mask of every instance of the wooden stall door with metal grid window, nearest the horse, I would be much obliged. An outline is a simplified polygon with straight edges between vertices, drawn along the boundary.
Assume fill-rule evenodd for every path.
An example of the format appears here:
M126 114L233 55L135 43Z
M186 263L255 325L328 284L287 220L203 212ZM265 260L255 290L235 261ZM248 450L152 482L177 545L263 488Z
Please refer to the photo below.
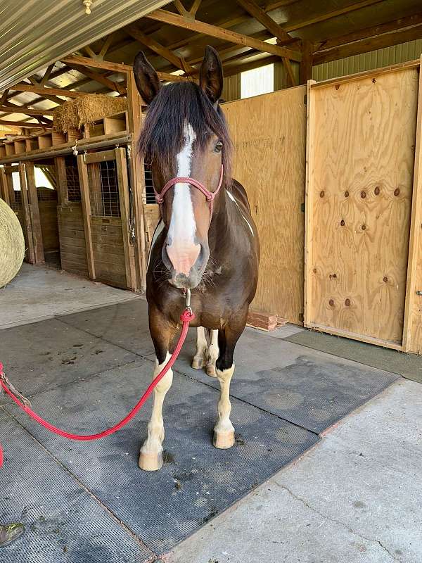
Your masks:
M135 288L131 201L124 148L78 156L89 277Z

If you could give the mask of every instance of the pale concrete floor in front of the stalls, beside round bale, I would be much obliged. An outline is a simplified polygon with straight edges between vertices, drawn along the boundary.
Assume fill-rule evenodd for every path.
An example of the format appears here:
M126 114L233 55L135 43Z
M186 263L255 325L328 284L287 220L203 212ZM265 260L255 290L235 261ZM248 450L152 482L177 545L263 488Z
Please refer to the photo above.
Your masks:
M136 298L131 291L24 262L15 279L0 289L0 329Z

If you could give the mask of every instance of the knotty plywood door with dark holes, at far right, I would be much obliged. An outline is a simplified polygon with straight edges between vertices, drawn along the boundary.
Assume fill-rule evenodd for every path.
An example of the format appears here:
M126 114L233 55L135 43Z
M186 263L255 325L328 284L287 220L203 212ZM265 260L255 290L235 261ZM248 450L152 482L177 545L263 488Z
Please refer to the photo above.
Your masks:
M417 68L309 96L305 324L401 348Z

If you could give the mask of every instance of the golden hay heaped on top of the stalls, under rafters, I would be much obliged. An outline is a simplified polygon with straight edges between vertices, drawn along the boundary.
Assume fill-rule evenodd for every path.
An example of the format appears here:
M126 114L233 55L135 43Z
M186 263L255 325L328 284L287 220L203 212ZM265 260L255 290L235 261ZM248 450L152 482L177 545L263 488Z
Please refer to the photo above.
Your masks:
M53 112L53 128L63 133L80 129L85 123L106 118L127 109L126 98L113 98L104 94L92 94L65 101Z

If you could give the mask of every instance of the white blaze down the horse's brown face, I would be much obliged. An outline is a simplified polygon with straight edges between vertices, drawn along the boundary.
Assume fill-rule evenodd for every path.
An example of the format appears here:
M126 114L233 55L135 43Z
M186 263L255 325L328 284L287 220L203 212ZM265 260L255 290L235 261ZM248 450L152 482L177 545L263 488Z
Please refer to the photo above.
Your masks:
M193 141L196 132L190 123L184 125L184 146L177 154L177 176L189 177L191 175L191 160ZM172 217L170 220L169 236L172 244L174 241L193 243L195 239L196 222L193 215L191 190L188 184L178 183L174 185L174 199Z

